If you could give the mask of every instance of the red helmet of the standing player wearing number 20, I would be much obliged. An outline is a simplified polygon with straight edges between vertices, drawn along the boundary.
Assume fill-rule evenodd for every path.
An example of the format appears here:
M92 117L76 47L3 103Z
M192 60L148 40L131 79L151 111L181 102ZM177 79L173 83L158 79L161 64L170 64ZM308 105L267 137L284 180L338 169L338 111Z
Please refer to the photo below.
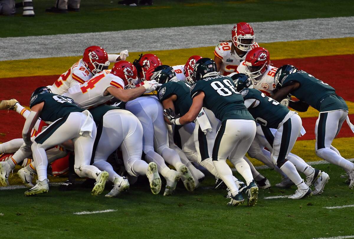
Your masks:
M255 32L247 22L239 22L232 29L232 42L242 51L249 51L255 44Z

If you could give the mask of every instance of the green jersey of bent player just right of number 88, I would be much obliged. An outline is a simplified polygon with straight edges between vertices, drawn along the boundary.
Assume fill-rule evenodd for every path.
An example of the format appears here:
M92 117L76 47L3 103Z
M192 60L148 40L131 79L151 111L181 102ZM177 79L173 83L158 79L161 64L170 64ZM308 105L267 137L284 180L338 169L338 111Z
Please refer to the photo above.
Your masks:
M256 89L243 89L240 91L244 100L246 99L258 99L259 104L254 108L248 108L256 122L273 129L278 129L279 124L284 120L289 109L278 101L264 95Z

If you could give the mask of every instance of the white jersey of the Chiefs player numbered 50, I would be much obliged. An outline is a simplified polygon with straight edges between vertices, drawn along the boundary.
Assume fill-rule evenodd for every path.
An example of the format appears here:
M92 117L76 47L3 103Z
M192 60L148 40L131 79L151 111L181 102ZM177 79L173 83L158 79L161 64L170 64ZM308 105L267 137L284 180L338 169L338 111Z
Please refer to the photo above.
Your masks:
M276 70L278 70L278 68L269 65L263 75L257 77L257 80L251 79L253 83L253 88L262 91L267 96L273 95L273 90L275 88L274 75ZM246 74L245 61L241 62L240 66L237 68L237 73Z

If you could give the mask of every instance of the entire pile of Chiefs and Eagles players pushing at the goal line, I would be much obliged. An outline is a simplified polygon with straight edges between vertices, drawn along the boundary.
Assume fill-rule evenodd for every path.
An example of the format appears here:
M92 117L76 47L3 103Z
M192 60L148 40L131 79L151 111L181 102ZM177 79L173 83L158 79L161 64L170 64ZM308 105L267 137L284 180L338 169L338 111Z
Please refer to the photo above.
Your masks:
M146 175L154 194L161 189L160 175L164 195L173 194L179 180L195 190L204 167L215 176L215 188L226 185L229 205L242 204L247 195L247 205L253 206L259 188L271 184L245 157L248 153L282 175L275 186L295 184L289 198L319 195L329 175L290 153L306 131L288 107L304 112L311 106L319 111L316 154L342 167L353 187L354 164L331 145L345 120L354 132L347 104L335 89L294 66L273 67L245 22L234 26L232 40L218 44L214 54L214 60L191 56L185 65L171 67L153 54L130 63L127 51L108 55L101 47L88 47L53 85L33 92L30 111L16 99L0 102L0 109L16 110L26 119L22 138L0 144L0 184L8 185L10 172L23 162L18 175L30 187L25 195L48 192L48 164L53 173L65 172L70 154L73 171L95 179L92 195L102 193L109 180L114 186L106 197L116 197L130 186L107 161L120 148L127 175ZM110 62L115 64L108 70ZM233 176L226 159L244 182Z

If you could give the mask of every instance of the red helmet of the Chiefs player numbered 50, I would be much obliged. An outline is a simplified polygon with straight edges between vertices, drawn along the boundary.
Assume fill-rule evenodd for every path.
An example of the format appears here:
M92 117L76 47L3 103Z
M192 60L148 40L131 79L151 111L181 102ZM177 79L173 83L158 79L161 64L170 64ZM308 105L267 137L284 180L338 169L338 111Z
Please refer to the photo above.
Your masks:
M249 51L245 59L246 74L252 79L262 75L270 64L269 52L263 47L256 47Z

